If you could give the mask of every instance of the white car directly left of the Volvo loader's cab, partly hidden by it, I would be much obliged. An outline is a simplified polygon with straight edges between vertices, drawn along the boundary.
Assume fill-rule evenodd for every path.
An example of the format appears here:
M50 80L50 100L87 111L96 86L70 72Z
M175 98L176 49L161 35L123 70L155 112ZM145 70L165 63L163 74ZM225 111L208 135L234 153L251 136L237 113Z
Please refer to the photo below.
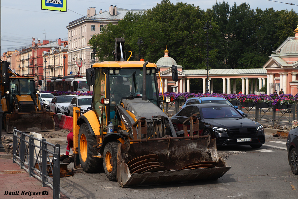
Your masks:
M91 108L91 103L91 95L76 95L68 105L68 115L73 116L73 107L81 107L81 112L85 112L88 108Z

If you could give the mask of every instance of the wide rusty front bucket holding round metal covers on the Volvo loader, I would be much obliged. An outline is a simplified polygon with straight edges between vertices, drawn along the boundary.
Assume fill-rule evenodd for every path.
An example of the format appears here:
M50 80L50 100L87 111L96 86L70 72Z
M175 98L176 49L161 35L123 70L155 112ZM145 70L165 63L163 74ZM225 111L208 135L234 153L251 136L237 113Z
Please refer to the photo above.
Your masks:
M119 144L119 186L216 180L231 167L217 155L215 139Z

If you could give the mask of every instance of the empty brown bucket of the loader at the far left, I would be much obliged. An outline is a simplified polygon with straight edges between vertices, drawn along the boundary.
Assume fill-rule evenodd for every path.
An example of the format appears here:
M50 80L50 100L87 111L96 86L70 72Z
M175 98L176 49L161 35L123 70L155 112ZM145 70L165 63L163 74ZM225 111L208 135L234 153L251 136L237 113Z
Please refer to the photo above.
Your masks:
M5 130L13 133L16 127L24 132L55 131L54 112L26 112L5 114Z

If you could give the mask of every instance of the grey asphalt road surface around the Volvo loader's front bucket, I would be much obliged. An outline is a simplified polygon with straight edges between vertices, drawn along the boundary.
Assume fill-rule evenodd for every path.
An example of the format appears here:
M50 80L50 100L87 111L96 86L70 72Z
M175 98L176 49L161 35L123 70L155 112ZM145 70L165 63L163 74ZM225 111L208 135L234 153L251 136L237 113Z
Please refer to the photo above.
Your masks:
M117 182L108 181L103 170L95 174L80 170L74 176L61 178L61 188L77 199L297 199L298 175L291 172L285 142L286 138L266 135L266 143L260 149L219 148L218 154L232 168L216 181L122 188ZM64 148L66 145L61 146L61 151Z

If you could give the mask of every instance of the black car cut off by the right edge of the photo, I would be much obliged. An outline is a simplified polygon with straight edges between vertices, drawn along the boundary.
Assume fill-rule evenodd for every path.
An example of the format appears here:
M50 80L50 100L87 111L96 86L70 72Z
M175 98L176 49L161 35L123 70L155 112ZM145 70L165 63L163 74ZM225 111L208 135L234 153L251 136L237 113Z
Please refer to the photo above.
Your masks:
M287 139L288 160L291 170L298 175L298 127L291 129Z

